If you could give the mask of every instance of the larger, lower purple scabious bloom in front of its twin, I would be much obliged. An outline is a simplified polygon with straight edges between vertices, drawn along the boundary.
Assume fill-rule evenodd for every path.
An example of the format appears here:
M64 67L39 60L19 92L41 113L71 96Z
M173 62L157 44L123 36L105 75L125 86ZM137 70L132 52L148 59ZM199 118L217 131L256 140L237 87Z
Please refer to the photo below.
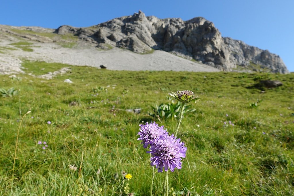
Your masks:
M174 135L166 135L156 139L151 145L150 151L147 151L147 153L151 154L150 165L156 165L158 172L162 172L163 167L165 171L170 169L171 172L175 168L181 169L181 158L186 157L187 151L184 145L181 139L176 139Z

